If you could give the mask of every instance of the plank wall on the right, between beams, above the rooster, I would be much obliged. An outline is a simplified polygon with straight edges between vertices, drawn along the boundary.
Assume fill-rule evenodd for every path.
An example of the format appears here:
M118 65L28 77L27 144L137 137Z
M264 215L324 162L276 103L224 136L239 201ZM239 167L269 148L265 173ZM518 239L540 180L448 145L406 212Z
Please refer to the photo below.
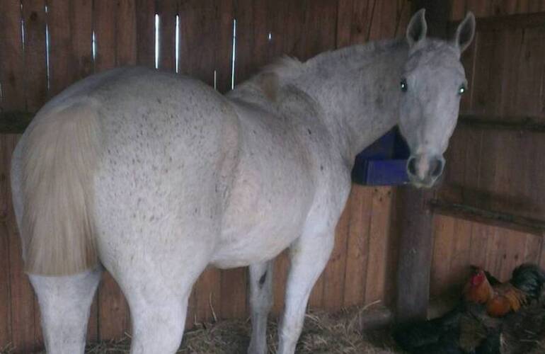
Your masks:
M545 1L454 0L452 19L461 19L466 10L479 18L521 15L545 11ZM469 92L461 114L488 125L459 123L446 156L440 200L545 219L545 135L500 127L525 119L545 122L543 15L478 21L474 45L463 56ZM434 220L432 295L456 290L469 264L485 267L500 280L509 279L523 262L545 266L542 232L446 214Z

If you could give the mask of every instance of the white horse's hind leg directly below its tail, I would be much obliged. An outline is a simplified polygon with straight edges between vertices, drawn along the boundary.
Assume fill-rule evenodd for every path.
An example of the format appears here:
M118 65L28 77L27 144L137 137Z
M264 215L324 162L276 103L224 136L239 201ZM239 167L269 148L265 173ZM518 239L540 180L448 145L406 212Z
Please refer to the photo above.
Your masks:
M97 267L76 275L29 275L38 295L47 353L84 353L89 311L101 273Z

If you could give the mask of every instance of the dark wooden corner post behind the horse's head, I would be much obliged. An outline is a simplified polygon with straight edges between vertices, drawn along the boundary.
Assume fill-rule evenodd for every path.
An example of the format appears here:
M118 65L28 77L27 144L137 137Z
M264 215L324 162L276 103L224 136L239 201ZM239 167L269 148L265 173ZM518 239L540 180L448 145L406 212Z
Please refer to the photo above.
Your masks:
M428 35L444 38L447 33L449 0L413 0L413 12L426 9ZM401 240L397 270L396 320L426 319L430 300L432 263L432 191L411 186L399 190Z

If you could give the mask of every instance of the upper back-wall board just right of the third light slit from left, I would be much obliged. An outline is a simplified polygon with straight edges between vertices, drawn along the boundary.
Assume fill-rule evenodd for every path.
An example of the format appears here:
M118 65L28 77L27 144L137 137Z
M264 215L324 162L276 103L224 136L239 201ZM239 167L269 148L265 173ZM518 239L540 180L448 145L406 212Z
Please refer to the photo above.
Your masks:
M96 43L95 70L102 72L115 67L117 6L115 1L110 0L94 0L93 4L93 29Z

